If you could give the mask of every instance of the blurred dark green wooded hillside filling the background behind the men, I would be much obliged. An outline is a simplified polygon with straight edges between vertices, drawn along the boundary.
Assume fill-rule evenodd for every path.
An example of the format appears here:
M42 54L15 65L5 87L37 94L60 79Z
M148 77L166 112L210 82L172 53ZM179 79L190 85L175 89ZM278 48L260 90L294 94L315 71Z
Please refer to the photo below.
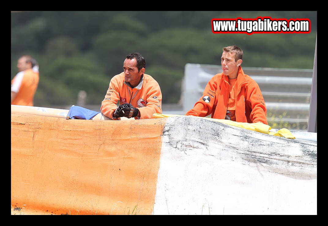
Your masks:
M258 16L307 18L311 32L212 32L213 18ZM313 69L316 35L317 11L11 11L11 79L30 54L40 66L34 106L76 105L81 90L100 105L125 56L139 52L163 103L178 103L187 63L220 65L222 48L237 45L243 67Z

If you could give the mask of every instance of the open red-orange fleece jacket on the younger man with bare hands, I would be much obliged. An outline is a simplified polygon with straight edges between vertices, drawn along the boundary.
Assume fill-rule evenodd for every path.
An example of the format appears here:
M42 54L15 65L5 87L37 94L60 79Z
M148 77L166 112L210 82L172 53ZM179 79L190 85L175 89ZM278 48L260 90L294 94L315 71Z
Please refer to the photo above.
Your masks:
M236 121L256 123L266 119L266 107L258 84L239 67L236 92ZM230 85L228 76L223 73L215 74L207 83L203 96L195 103L193 109L186 115L225 119Z

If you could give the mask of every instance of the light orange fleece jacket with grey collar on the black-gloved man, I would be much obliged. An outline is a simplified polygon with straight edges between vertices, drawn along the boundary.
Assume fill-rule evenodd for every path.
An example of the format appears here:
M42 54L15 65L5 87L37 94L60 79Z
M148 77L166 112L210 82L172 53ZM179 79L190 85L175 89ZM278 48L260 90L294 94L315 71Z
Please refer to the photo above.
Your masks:
M124 72L115 75L109 84L105 99L101 102L101 112L111 119L119 104L128 104L138 108L140 119L152 118L154 113L162 113L162 92L157 81L148 74L143 74L140 83L131 88L124 81ZM137 117L134 117L138 119Z

